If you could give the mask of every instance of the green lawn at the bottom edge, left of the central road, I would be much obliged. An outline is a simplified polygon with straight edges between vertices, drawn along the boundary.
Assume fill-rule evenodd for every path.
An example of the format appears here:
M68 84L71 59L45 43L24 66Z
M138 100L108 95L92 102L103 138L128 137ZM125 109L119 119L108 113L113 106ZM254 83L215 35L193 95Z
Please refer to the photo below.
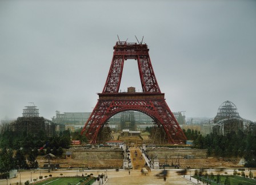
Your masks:
M80 184L80 180L85 179L82 177L70 177L70 178L61 178L61 177L56 177L56 178L51 178L48 180L45 180L43 182L35 183L37 185L59 185L59 184ZM91 183L90 183L91 184Z

